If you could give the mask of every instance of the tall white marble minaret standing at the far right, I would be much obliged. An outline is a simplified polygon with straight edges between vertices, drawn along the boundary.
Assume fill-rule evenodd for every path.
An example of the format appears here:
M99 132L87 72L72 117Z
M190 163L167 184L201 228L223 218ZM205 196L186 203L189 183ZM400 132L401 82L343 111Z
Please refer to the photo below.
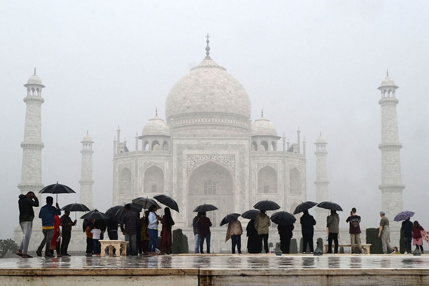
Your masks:
M386 212L391 229L392 225L397 225L392 224L393 218L403 211L402 190L405 188L402 184L399 154L402 144L399 143L396 116L396 105L399 102L396 98L398 88L387 71L386 77L378 87L381 91L381 99L378 101L381 106L381 143L378 145L381 151L381 184L378 188L381 190L381 210ZM396 230L399 230L398 228L399 226Z

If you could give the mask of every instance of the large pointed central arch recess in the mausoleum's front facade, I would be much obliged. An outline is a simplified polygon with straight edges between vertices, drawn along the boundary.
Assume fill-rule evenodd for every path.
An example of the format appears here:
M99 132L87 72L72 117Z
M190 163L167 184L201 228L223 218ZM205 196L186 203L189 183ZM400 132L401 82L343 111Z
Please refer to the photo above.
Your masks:
M234 176L226 167L208 161L193 169L187 180L187 206L189 226L192 226L194 208L201 204L213 204L219 211L210 212L207 216L212 220L213 227L220 223L219 213L233 213Z

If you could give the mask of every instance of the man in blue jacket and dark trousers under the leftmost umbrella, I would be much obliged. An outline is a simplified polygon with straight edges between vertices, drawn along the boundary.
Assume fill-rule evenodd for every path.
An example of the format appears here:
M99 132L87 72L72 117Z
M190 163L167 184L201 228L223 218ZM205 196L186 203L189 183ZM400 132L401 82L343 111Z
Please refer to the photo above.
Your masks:
M46 197L46 205L40 209L39 218L42 219L42 232L43 240L37 248L37 256L42 256L42 250L45 246L45 257L55 257L49 252L51 246L51 240L54 236L54 219L55 215L61 215L61 209L58 203L56 207L52 204L54 203L54 198L51 196Z

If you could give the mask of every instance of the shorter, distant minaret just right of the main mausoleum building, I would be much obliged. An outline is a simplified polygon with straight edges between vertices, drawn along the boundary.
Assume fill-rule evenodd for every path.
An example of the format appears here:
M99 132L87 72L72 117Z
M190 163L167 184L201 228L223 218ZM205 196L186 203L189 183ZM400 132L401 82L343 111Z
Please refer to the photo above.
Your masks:
M316 143L316 180L314 184L316 185L316 202L324 202L329 200L328 196L328 171L326 165L326 140L322 137L320 132L319 138L317 138ZM324 230L326 229L326 216L328 212L325 209L314 208L316 212L316 229Z

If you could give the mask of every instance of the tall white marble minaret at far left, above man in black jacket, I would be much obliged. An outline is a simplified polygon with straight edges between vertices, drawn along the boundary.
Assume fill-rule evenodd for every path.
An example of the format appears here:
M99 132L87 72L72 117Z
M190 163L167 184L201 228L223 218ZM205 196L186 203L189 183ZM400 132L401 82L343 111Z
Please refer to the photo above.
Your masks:
M42 98L42 89L45 86L37 76L36 68L24 86L27 88L27 96L24 97L27 107L25 110L24 141L21 142L23 151L21 182L18 184L18 188L21 194L26 194L28 191L37 194L44 187L42 183L42 149L44 144L41 140L42 103L45 102Z

